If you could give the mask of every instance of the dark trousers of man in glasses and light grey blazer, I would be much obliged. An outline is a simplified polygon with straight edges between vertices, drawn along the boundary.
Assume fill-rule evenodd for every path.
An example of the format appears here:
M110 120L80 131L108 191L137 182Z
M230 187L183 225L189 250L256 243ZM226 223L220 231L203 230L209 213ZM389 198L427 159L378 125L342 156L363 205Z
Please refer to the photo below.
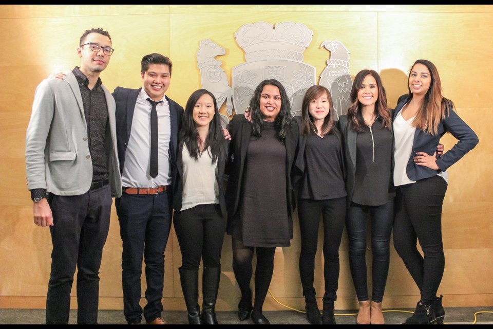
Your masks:
M46 298L46 324L68 324L70 291L77 266L77 323L98 322L99 267L109 230L109 185L82 195L50 194L51 274Z

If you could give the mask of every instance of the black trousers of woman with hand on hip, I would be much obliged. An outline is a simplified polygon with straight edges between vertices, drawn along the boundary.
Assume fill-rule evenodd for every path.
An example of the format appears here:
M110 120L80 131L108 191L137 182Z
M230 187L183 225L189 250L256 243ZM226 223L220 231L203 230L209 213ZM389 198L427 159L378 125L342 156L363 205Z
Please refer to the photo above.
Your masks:
M425 305L435 299L445 268L442 204L446 191L447 182L440 176L397 187L394 247L420 288Z

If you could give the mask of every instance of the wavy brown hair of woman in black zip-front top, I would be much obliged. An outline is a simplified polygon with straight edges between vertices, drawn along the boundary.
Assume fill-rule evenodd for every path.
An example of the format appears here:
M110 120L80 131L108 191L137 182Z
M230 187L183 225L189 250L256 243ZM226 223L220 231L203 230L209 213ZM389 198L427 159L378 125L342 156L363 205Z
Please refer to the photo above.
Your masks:
M361 103L358 100L358 91L363 84L366 76L372 76L375 78L376 86L378 87L378 99L375 103L375 114L377 118L382 119L383 126L387 129L391 129L390 123L390 111L387 105L387 96L385 94L385 88L382 84L382 79L374 70L361 70L354 77L353 87L351 88L351 106L348 108L348 121L352 130L361 133L365 130L365 120L361 113Z

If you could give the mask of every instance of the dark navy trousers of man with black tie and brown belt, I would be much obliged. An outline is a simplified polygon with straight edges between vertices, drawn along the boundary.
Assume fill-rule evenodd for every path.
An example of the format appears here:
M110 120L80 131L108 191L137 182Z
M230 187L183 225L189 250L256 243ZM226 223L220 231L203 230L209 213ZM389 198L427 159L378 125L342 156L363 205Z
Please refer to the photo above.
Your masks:
M147 283L144 318L153 321L163 311L164 250L171 228L170 194L169 191L155 195L123 193L115 202L123 241L123 313L128 323L142 320L139 305L142 260Z

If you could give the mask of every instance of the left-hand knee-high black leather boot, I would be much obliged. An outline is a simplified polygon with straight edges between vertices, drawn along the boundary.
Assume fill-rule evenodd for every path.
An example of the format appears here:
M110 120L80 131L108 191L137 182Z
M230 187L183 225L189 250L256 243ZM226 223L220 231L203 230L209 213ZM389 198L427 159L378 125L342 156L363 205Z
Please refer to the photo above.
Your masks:
M179 268L181 289L185 298L188 324L203 324L200 316L199 300L199 269Z

